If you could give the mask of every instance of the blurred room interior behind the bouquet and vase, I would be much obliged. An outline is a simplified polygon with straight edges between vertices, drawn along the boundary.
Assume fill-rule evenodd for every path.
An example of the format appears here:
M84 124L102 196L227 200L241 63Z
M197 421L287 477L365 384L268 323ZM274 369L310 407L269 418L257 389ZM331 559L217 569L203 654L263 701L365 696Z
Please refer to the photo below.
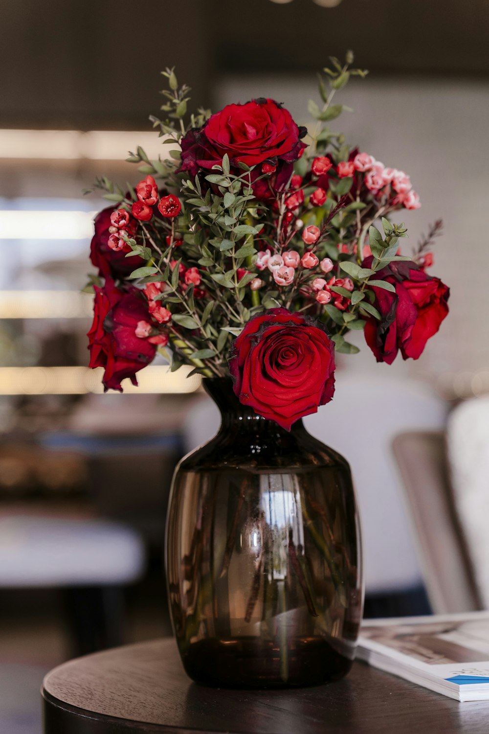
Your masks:
M422 199L405 213L411 244L444 219L432 272L452 289L451 312L417 362L377 365L366 347L341 355L334 403L306 424L353 466L367 614L487 606L489 4L0 7L0 730L40 732L39 686L59 662L171 633L169 484L218 416L198 377L158 361L139 388L103 395L81 293L104 206L82 189L100 174L136 183L128 150L161 152L148 115L166 66L195 106L268 96L299 125L311 124L328 54L352 48L370 70L341 92L354 112L332 127L411 175Z

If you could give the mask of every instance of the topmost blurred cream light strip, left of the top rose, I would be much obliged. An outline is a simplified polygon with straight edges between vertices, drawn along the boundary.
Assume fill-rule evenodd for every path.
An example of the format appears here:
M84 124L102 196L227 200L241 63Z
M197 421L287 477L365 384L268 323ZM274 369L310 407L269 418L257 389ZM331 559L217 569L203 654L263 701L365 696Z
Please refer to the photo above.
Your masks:
M161 145L156 131L1 130L0 158L120 161L137 146L166 158L177 145Z

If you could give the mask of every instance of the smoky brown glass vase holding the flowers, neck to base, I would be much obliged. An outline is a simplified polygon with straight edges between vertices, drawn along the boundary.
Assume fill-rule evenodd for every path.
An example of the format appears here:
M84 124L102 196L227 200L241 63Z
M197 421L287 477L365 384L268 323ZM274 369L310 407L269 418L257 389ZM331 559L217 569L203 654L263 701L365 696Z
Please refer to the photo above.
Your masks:
M337 680L363 603L348 462L302 421L287 432L240 404L231 379L204 383L221 428L178 465L166 526L185 671L227 687Z

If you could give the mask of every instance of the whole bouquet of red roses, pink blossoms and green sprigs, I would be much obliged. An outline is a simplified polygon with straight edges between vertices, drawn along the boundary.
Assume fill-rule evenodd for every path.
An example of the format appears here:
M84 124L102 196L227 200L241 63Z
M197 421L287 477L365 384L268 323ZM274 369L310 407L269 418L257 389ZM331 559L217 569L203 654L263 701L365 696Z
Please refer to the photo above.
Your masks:
M449 288L427 273L441 222L411 255L401 248L394 216L419 195L407 173L322 128L342 109L328 84L364 75L327 73L303 142L270 98L189 114L188 87L163 72L165 116L152 120L169 158L136 148L140 181L95 186L113 203L90 254L90 366L106 389L136 382L158 350L172 370L232 374L243 404L290 429L331 400L334 355L359 352L349 333L364 330L379 362L422 355L448 314Z

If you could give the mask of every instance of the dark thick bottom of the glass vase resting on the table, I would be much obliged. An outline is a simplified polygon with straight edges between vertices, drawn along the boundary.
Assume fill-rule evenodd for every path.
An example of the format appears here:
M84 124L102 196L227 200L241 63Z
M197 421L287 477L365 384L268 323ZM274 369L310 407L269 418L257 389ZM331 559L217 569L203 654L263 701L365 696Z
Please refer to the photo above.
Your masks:
M182 660L196 683L218 688L318 686L344 677L353 663L321 637L289 642L282 654L279 644L257 637L200 640Z

